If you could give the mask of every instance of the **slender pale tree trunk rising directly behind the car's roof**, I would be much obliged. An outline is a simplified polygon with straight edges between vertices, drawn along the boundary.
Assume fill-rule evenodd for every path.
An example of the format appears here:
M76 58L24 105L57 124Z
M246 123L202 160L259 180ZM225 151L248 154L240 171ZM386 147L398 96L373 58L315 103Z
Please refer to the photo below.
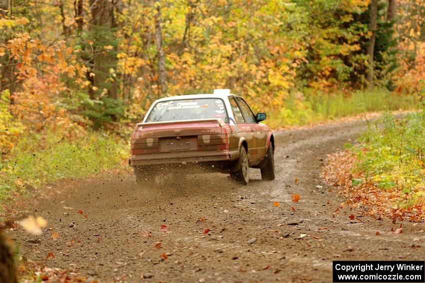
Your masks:
M155 42L156 42L156 51L158 56L158 85L159 85L159 94L166 93L166 71L165 71L165 54L162 48L162 33L161 33L161 10L159 2L156 7L155 14Z

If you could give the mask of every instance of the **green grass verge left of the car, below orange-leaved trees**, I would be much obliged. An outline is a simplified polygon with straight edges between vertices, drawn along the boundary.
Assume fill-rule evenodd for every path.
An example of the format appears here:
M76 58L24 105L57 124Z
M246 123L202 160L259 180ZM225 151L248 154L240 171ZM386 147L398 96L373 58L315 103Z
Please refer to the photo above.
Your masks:
M0 162L0 216L12 202L30 196L28 187L113 170L128 155L127 141L106 132L84 131L69 137L49 128L28 133Z

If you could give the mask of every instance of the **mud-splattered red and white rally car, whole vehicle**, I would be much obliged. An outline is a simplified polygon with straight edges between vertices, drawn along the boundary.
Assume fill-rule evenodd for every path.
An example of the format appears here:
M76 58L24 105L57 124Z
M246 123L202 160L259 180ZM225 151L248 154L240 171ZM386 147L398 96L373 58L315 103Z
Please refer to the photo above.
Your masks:
M262 168L261 173L272 169L274 179L274 162L264 169L274 149L270 129L259 123L264 119L264 113L254 115L228 90L161 98L131 134L128 162L138 181L151 179L159 169L188 166L229 173L243 184L248 167Z

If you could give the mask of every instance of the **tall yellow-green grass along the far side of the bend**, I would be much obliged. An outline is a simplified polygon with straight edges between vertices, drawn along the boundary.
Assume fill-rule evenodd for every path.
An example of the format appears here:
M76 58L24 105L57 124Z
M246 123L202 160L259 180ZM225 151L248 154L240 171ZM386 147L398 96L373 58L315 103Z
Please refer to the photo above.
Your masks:
M270 111L266 124L273 129L303 126L367 112L413 109L418 97L397 95L384 89L358 90L351 95L312 92L292 93L279 111Z

